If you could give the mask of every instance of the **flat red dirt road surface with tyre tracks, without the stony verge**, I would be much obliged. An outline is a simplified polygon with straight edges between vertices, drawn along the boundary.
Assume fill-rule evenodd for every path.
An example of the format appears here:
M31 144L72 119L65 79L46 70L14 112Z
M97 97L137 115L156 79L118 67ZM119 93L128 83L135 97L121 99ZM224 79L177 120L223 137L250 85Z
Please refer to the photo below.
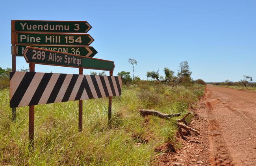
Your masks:
M256 93L207 85L212 166L256 166Z

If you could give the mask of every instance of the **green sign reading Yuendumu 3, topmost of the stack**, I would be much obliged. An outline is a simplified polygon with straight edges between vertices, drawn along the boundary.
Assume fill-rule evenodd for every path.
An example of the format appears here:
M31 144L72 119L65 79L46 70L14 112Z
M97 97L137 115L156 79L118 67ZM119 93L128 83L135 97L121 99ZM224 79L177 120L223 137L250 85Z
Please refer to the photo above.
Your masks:
M90 29L87 21L15 20L16 32L87 33Z

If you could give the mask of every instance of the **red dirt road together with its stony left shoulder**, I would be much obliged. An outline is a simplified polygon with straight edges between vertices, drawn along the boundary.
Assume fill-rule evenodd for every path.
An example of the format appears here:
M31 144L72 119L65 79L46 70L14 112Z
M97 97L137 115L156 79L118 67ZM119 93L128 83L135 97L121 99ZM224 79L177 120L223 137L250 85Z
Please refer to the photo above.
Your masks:
M256 166L256 93L208 84L197 105L190 126L200 135L177 134L183 148L155 165Z

